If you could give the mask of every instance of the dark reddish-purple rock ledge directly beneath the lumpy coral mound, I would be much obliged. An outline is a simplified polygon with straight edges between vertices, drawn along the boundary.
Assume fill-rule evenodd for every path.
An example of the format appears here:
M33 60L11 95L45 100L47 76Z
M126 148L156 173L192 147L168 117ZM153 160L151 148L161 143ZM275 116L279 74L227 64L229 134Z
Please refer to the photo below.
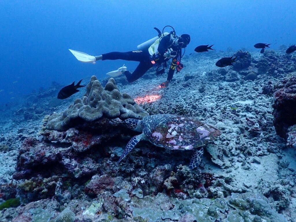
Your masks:
M17 167L13 178L25 179L40 174L69 174L71 178L91 175L99 167L97 158L102 153L91 154L92 149L99 150L102 143L118 138L126 128L120 119L99 119L85 122L65 132L45 130L43 138L24 140L17 157Z

